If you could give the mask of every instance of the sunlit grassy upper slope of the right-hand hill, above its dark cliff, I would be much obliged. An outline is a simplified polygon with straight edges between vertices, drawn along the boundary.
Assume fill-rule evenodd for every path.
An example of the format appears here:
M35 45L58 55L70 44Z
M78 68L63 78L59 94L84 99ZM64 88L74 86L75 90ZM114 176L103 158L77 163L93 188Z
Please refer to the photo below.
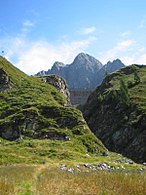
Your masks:
M134 80L134 71L136 71L140 77L140 82L137 84L135 84ZM93 110L95 110L95 107L104 104L104 99L106 101L106 96L111 92L113 95L114 91L120 91L121 79L128 87L129 104L139 110L141 114L146 114L146 66L132 65L107 75L102 85L97 88L94 95L92 94L92 97L90 98L91 101L86 105L87 107L85 106L85 109L88 110L88 115L94 114ZM118 101L120 101L120 97L118 98ZM115 104L115 101L116 99L113 97L113 102L111 101L110 103Z

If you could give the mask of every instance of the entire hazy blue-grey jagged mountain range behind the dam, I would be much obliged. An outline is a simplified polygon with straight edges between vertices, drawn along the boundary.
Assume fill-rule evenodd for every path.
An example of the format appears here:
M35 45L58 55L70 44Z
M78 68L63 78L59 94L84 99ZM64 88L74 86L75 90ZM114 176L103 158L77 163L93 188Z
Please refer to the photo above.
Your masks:
M80 53L71 64L55 62L51 70L40 71L36 75L57 74L67 81L69 89L94 89L102 83L106 74L123 67L125 65L119 59L103 65L96 58Z

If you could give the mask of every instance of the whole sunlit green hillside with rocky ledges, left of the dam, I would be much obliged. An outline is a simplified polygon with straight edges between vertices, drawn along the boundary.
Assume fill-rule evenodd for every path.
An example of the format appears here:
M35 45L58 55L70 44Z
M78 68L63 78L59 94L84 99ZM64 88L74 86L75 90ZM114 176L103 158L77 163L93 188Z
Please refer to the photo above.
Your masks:
M42 163L103 155L82 113L40 78L0 57L0 164Z

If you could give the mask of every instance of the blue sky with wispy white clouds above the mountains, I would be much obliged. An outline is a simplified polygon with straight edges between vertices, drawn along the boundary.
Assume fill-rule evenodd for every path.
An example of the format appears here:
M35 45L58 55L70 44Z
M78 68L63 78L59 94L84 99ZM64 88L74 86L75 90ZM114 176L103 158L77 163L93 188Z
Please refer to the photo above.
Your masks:
M146 64L145 10L145 0L1 1L0 50L27 74L80 52Z

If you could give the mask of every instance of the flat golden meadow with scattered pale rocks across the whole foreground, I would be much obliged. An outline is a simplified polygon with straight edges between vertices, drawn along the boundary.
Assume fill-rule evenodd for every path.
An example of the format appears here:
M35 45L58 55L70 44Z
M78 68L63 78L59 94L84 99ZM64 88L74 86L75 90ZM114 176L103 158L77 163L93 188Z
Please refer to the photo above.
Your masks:
M90 164L8 165L0 167L0 195L145 195L144 166L102 170Z

